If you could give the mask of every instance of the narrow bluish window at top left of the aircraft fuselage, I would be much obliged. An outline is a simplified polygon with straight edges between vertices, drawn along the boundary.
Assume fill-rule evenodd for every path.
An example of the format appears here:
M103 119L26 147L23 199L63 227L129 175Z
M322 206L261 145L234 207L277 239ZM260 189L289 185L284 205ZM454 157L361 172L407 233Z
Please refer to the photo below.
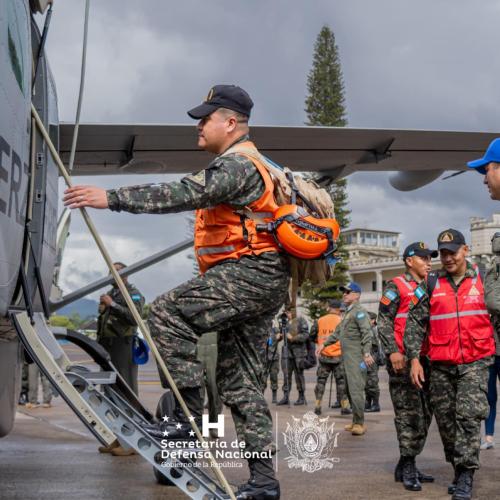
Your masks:
M7 39L10 63L21 92L29 87L28 14L22 2L8 2Z

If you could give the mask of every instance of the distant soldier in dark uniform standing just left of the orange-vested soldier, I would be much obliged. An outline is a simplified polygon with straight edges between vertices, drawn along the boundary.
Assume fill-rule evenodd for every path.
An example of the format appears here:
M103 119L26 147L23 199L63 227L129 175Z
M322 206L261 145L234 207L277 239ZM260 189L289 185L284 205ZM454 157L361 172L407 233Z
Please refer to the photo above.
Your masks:
M278 340L286 335L286 343L281 347L281 369L283 370L283 398L278 405L289 404L292 389L292 375L295 374L295 384L299 397L294 405L307 404L305 398L306 382L304 379L304 362L307 356L306 342L309 337L309 326L302 316L294 317L295 309L286 311L287 321L285 332L278 334Z

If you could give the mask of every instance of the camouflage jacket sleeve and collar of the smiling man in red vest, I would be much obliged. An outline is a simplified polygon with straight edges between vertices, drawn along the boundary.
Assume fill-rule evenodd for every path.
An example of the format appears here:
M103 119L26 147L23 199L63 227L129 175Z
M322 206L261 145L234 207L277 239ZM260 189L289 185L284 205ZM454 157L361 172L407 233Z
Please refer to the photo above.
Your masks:
M458 290L460 283L455 285L452 276L450 276L444 269L437 272L438 278L446 278L454 290ZM429 273L429 277L432 274ZM476 271L472 264L467 262L465 270L465 278L474 278ZM429 278L428 278L429 279ZM420 349L425 338L428 335L429 329L429 316L430 316L430 301L427 288L428 281L424 280L415 290L413 300L410 302L410 310L408 312L408 319L406 320L406 328L403 336L403 345L405 348L406 357L408 359L418 358L420 356Z

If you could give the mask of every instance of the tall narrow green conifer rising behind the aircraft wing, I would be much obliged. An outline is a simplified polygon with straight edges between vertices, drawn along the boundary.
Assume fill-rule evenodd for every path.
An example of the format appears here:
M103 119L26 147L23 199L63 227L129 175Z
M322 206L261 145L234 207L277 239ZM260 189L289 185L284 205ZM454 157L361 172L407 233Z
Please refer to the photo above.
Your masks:
M314 45L313 65L307 77L307 90L308 96L305 102L307 125L328 127L347 125L339 51L335 44L335 36L328 26L321 28ZM341 230L346 229L350 222L346 186L347 180L341 179L330 183L326 188L335 205L335 217ZM337 244L336 256L340 261L334 268L332 278L321 288L310 285L302 287L302 295L311 318L324 314L323 299L341 298L342 294L338 288L348 281L349 254L345 249L342 233Z

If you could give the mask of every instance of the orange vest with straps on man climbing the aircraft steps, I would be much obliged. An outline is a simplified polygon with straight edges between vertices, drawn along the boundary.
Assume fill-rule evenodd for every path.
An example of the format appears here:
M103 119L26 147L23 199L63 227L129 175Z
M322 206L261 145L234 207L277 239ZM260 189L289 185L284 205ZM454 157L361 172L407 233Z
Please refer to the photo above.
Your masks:
M242 211L227 204L196 211L194 249L202 274L226 259L238 260L244 255L279 251L271 234L256 230L257 223L271 222L279 207L274 199L271 176L257 158L244 153L249 149L255 146L245 141L232 146L230 152L246 156L255 165L264 180L264 193Z

